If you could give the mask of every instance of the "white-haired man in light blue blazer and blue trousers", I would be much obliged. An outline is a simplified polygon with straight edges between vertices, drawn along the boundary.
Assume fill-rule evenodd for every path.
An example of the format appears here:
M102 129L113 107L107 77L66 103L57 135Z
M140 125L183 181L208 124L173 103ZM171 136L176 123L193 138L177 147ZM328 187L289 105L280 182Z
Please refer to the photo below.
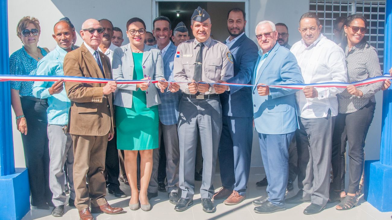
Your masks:
M266 197L253 201L256 213L273 213L286 209L285 192L289 170L289 145L298 128L297 90L267 85L303 83L294 55L276 42L274 23L262 21L256 26L261 47L254 69L252 88L254 125L259 133L261 157L268 179Z

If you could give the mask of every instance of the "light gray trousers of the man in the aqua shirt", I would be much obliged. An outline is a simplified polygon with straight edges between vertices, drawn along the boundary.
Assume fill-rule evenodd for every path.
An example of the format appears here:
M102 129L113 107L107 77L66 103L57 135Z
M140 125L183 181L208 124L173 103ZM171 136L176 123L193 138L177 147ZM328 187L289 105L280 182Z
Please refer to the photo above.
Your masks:
M49 138L49 187L53 193L54 206L64 205L67 196L64 193L64 164L68 171L69 197L75 199L73 186L73 148L72 138L69 133L64 134L61 125L48 124Z

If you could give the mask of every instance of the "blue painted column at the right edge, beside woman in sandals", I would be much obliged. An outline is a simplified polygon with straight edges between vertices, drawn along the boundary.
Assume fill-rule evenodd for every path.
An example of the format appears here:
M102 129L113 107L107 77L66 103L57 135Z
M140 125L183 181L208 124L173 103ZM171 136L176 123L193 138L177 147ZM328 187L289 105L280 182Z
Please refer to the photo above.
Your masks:
M385 9L384 72L392 67L392 0ZM374 146L376 147L376 146ZM392 211L392 90L383 93L380 160L365 162L365 199L379 211Z

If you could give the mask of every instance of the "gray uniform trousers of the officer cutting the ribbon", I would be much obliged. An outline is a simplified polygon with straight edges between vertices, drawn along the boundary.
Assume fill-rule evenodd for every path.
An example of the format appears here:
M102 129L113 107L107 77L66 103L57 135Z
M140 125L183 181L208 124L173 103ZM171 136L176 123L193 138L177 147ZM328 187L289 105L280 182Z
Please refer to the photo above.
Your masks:
M211 99L192 99L182 96L179 106L178 137L180 140L181 197L194 195L194 171L198 132L203 156L201 198L212 198L216 157L222 131L222 108L219 96Z

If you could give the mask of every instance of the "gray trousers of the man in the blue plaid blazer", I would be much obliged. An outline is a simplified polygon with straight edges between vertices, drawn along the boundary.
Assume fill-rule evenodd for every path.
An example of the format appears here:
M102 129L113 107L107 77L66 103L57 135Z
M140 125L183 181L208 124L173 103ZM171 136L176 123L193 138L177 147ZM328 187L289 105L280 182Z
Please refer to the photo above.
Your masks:
M168 193L178 192L178 169L180 163L180 148L178 145L177 124L165 125L159 121L160 134L162 132L163 142L165 143L166 154L166 191ZM161 135L159 135L161 137ZM161 140L161 139L160 139ZM159 144L161 146L161 144ZM158 191L158 167L159 167L159 148L153 150L152 173L148 191L156 193Z

